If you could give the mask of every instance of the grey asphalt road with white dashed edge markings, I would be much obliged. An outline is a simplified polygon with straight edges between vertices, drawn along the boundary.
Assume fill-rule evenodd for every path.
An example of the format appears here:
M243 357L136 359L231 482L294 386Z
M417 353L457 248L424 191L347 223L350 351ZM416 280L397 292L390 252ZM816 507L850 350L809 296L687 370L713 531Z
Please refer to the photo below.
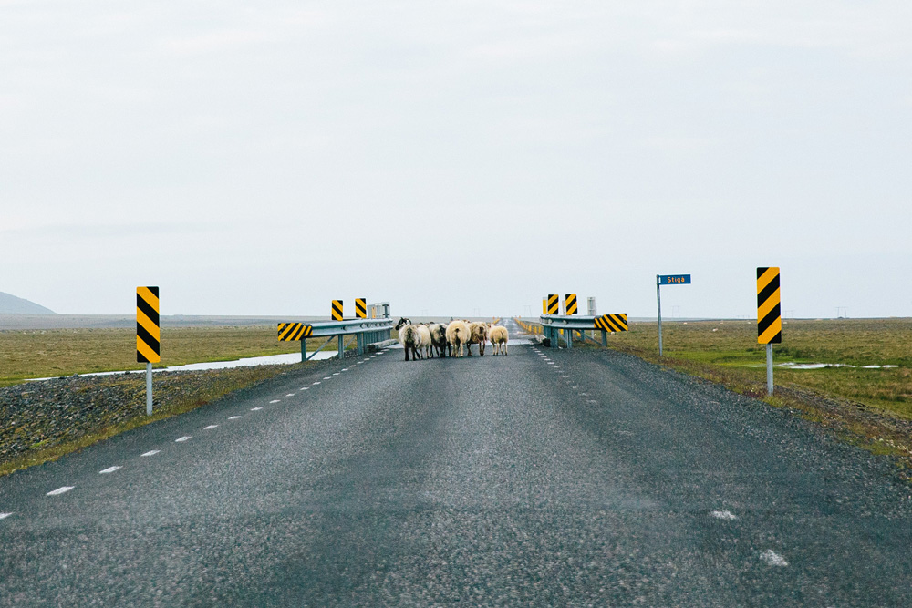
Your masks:
M0 479L0 605L912 605L885 460L634 357L488 353L324 362Z

